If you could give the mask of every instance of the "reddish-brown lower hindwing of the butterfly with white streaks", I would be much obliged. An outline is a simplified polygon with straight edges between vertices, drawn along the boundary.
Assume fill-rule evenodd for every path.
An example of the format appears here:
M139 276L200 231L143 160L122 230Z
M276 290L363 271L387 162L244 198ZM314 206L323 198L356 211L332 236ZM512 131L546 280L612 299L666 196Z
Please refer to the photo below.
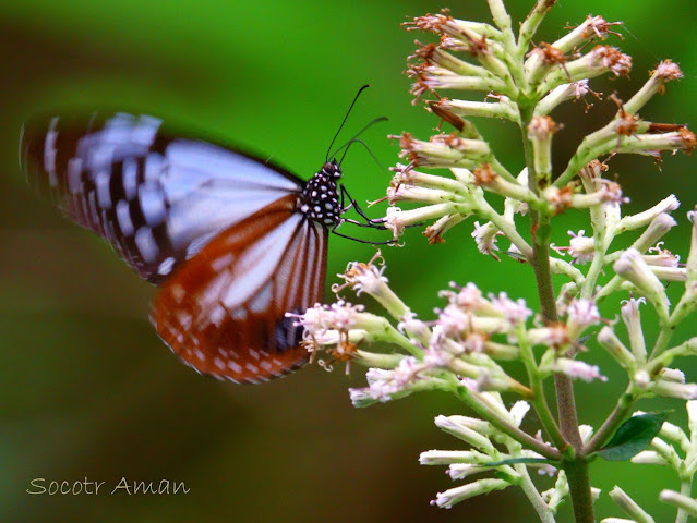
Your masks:
M302 365L287 312L322 300L327 229L286 196L228 228L178 267L155 297L159 336L199 372L259 382Z

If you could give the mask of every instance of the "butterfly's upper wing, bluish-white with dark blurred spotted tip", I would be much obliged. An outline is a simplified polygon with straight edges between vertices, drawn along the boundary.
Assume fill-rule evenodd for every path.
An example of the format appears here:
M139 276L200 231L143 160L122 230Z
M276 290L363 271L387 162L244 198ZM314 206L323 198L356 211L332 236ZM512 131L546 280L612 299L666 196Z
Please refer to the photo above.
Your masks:
M23 130L20 159L69 218L154 282L303 185L277 166L125 113L36 119Z

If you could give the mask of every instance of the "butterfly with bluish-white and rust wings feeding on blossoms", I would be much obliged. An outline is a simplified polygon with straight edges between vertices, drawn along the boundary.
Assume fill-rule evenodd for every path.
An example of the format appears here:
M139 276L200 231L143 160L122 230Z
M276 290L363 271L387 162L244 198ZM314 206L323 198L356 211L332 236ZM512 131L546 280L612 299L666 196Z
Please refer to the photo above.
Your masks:
M305 182L127 113L38 119L20 143L29 183L159 285L151 321L172 352L201 374L242 384L308 361L302 328L286 313L322 302L329 232L344 236L336 229L345 222L384 229L328 158ZM345 218L350 208L365 221Z

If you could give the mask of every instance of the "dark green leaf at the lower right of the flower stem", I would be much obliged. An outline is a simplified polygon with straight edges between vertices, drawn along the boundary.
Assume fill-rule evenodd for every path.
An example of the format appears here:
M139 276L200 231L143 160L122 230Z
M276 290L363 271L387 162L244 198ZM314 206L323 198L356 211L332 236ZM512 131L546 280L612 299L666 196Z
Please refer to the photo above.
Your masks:
M657 412L632 416L624 422L612 439L598 452L608 461L626 461L645 450L661 430L668 412Z

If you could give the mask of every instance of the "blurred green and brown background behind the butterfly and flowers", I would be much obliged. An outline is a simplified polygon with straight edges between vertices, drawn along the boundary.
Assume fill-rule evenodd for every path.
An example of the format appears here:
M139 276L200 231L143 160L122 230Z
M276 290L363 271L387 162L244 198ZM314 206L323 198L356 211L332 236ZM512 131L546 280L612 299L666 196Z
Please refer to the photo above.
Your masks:
M516 20L531 3L507 1ZM103 242L36 199L17 172L19 130L27 115L106 106L226 136L307 179L321 166L363 83L373 87L351 114L346 135L388 115L390 121L365 141L385 165L394 163L397 146L385 139L387 133L425 137L437 123L410 105L402 75L414 37L432 38L406 33L399 23L445 5L443 0L1 2L0 521L536 521L514 489L450 511L429 506L436 491L453 484L443 469L420 466L418 455L458 448L433 425L436 414L466 412L452 398L423 394L356 410L346 389L362 385L359 368L346 377L340 369L328 374L312 366L264 386L240 387L202 378L179 364L148 325L154 290ZM489 21L484 0L448 7L458 17ZM658 97L642 115L695 124L697 4L566 0L536 40L553 41L566 22L578 24L589 13L626 23L625 40L610 42L632 54L635 64L630 78L597 81L596 89L627 99L660 59L672 58L685 80L669 86L669 96ZM589 115L581 104L558 110L555 118L565 127L555 138L557 165L584 132L613 111L611 102L597 104ZM516 129L503 122L483 122L481 129L517 172L522 160ZM685 210L697 202L693 159L666 157L662 172L642 157L618 158L611 167L632 197L626 211L669 193L678 196L683 208L675 216L683 227L671 233L668 246L686 256ZM345 172L359 200L384 194L388 178L364 150L352 149ZM563 216L556 242L567 244L567 229L588 230L582 218ZM536 303L530 271L509 259L479 255L469 238L472 227L470 221L456 228L447 243L435 246L411 230L405 248L386 250L393 287L422 317L440 305L436 292L449 280L472 280L485 291L506 290ZM365 260L373 252L333 238L329 282L348 260ZM674 295L677 290L671 285ZM614 314L612 305L605 306L608 316ZM686 327L678 337L694 333ZM594 352L611 380L577 390L581 419L597 426L625 384ZM688 378L696 380L697 366L689 365ZM640 406L675 408L673 421L685 417L674 402ZM533 427L533 416L529 423ZM606 492L620 484L657 521L671 513L654 501L661 487L677 487L670 473L603 463L592 472L593 485ZM183 481L191 491L169 497L25 492L36 477L87 477L106 482L107 489L122 476ZM621 515L606 496L599 507L602 516ZM568 508L564 511L560 521L570 521Z

